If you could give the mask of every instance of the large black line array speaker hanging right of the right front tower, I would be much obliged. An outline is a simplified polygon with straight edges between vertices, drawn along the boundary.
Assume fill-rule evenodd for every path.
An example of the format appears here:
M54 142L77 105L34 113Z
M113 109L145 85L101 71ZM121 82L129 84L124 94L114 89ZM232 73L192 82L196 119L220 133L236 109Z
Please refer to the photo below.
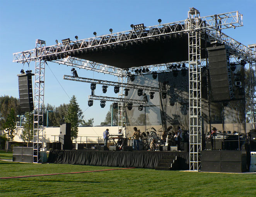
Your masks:
M233 90L229 53L225 45L209 47L207 51L212 100L215 102L231 100L233 98Z

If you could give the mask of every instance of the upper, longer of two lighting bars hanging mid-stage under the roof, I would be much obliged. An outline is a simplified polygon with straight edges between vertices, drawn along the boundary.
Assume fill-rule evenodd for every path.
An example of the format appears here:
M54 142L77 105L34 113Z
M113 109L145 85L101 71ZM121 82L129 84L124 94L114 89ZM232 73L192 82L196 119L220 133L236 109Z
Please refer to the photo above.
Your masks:
M142 90L148 90L148 91L154 91L154 92L166 92L166 89L163 89L163 88L135 85L135 84L129 84L129 83L111 82L106 80L90 79L90 78L84 78L84 77L75 77L70 75L64 75L63 79L76 81L76 82L97 83L102 85L118 86L123 88L142 89Z

